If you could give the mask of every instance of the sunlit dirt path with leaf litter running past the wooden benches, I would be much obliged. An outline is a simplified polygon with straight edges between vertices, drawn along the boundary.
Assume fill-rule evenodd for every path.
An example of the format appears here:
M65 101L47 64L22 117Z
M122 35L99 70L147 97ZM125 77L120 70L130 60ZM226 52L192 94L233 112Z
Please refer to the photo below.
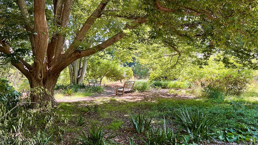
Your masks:
M103 87L104 91L100 94L93 94L91 96L86 96L84 98L69 98L69 96L56 99L57 102L78 102L78 101L86 101L91 102L97 99L109 100L110 97L118 100L126 100L126 101L142 101L142 100L151 100L151 98L174 98L174 99L193 99L193 96L187 95L169 95L168 89L156 90L152 89L149 92L134 92L134 93L125 93L124 95L116 95L116 87Z

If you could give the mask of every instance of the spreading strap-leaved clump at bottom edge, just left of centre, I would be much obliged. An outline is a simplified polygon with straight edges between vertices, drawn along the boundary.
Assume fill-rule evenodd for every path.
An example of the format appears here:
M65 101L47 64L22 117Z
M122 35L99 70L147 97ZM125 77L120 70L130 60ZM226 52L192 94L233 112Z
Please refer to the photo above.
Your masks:
M80 138L76 138L77 143L81 145L105 145L109 140L117 136L113 135L113 132L106 137L107 133L104 133L103 131L104 127L102 125L100 127L93 125L91 128L88 128L88 135L86 135L85 131L82 130Z

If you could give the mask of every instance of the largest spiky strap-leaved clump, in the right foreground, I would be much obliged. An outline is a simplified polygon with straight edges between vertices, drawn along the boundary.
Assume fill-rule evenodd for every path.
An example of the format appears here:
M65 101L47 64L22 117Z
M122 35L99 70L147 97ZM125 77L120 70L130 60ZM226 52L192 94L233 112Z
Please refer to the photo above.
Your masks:
M213 133L213 127L219 119L211 119L208 114L200 113L199 110L197 114L187 110L179 110L175 114L175 119L181 125L180 128L186 130L193 142L209 141L212 136L217 135Z

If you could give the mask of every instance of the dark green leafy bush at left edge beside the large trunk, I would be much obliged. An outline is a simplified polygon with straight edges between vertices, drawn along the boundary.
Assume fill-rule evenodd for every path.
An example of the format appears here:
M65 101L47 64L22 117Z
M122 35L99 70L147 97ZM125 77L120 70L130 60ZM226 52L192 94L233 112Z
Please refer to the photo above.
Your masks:
M0 80L0 103L13 108L20 102L22 94L8 84L7 80Z

